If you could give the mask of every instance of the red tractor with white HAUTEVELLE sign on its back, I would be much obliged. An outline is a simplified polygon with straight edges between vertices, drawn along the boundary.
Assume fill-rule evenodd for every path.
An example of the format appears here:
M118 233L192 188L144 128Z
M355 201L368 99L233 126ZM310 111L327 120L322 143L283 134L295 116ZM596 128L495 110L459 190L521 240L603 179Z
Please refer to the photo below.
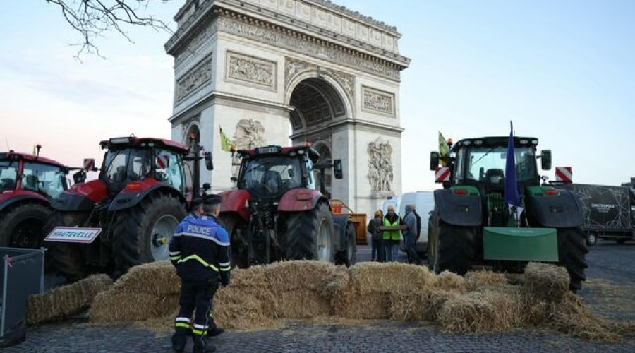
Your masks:
M100 145L107 151L99 179L61 193L44 227L52 263L71 281L91 272L117 277L134 265L169 258L168 244L187 213L186 200L200 192L202 157L195 143L191 149L172 140L130 136ZM188 161L195 161L191 178L186 178ZM211 170L209 153L206 164ZM92 239L83 237L90 232Z

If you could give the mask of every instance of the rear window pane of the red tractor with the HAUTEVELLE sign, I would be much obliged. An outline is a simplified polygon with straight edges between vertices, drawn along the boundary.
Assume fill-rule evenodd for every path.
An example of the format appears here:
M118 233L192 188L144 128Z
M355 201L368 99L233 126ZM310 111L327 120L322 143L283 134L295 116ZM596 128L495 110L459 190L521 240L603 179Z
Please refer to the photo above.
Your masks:
M102 178L116 184L143 179L152 167L151 155L149 148L108 150L104 157Z

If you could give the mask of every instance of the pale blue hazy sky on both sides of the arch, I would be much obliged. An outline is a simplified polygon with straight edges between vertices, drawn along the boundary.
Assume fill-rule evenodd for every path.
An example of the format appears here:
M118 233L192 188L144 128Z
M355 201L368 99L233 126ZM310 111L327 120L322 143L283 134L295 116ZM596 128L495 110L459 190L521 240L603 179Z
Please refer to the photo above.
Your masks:
M335 1L396 25L401 54L403 191L436 188L428 155L454 140L535 136L574 181L635 177L635 1ZM0 12L0 143L78 165L99 140L169 138L174 76L167 32L108 33L107 59L73 58L78 37L55 6L9 0ZM183 0L148 11L171 21ZM173 24L174 28L174 24ZM553 171L545 172L553 179ZM396 177L399 177L396 175Z

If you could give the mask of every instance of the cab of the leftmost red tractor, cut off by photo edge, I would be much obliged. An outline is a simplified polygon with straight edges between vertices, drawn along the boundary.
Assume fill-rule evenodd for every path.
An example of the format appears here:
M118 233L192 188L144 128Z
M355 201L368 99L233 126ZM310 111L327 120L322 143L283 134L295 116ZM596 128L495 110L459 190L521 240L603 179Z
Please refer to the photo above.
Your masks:
M23 190L56 198L67 189L66 174L66 167L48 158L0 153L0 193Z

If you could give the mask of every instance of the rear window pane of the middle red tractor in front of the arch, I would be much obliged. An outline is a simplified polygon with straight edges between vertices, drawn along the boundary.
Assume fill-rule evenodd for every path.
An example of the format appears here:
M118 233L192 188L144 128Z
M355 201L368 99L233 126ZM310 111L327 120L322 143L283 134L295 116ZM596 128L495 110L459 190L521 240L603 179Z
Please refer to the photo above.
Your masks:
M263 157L243 162L238 189L260 195L279 195L301 186L302 170L298 158Z

